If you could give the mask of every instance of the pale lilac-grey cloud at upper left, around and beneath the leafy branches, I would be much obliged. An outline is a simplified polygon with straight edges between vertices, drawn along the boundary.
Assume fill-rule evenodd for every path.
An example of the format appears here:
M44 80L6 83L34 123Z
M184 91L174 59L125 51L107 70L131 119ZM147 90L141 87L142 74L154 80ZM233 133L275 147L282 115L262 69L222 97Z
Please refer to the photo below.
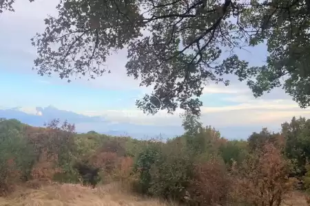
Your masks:
M55 6L58 0L37 0L17 1L14 3L15 12L3 12L0 17L0 71L1 69L10 72L30 73L37 76L36 71L32 71L33 60L37 53L35 47L31 45L30 38L36 32L43 32L44 21L48 14L56 16ZM18 60L17 60L18 59ZM87 81L88 77L81 80L74 80L72 84L80 84L85 87L100 89L132 90L141 89L143 93L149 93L152 88L140 88L140 80L134 80L127 76L125 64L127 62L127 50L122 49L107 58L106 67L112 73L104 73L102 77ZM66 80L60 80L58 75L52 76L55 84L66 84Z

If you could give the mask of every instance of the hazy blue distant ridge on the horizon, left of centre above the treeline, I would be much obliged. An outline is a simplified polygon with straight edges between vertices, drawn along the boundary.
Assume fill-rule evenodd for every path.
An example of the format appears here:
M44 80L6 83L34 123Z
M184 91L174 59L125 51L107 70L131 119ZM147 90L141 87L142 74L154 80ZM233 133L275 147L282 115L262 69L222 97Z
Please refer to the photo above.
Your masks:
M43 126L52 119L68 120L76 124L78 133L87 133L95 130L107 135L130 136L137 139L149 139L161 136L163 139L174 137L183 133L183 128L177 126L149 126L130 123L112 123L104 117L89 117L70 111L63 111L54 106L36 108L5 108L0 109L0 117L18 119L32 126Z

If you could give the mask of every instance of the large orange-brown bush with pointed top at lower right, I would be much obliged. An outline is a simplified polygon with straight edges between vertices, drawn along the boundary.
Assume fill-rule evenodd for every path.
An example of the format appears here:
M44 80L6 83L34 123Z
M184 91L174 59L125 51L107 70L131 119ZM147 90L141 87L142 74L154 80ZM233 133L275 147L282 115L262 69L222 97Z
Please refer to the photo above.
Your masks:
M249 157L234 174L234 201L257 206L281 205L286 194L293 190L296 179L289 178L289 161L273 144Z

